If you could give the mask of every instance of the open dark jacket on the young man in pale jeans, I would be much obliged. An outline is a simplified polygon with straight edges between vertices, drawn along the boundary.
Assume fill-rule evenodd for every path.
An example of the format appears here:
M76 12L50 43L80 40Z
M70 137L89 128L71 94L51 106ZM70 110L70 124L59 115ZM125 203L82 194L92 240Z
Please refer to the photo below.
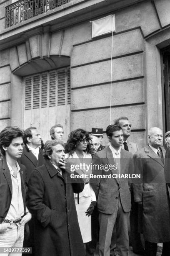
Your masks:
M25 212L25 166L19 163L20 166L20 177L21 177L21 189L24 202L24 212ZM5 157L0 160L0 223L5 219L7 212L10 208L10 203L12 199L12 180L10 175L10 170L7 166L7 161Z

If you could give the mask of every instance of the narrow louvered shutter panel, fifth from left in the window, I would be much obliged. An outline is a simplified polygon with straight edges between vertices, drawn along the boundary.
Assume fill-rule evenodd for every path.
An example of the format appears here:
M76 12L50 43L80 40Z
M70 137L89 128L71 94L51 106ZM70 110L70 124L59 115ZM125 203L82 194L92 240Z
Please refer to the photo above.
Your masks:
M57 72L57 105L65 105L65 70Z

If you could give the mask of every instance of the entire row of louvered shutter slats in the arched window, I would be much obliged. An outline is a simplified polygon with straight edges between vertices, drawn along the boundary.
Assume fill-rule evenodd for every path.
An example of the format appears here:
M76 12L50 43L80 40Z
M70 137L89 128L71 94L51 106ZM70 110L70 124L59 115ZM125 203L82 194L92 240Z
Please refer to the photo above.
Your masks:
M57 105L70 104L70 68L25 78L25 110L54 107L56 101Z

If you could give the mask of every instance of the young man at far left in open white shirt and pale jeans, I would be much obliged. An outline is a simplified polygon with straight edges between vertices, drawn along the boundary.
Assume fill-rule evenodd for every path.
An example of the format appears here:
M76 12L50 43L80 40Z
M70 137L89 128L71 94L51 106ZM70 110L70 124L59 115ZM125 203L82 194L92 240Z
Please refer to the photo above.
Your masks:
M0 132L0 247L22 248L24 225L31 219L25 205L25 166L17 161L23 152L23 137L18 127Z

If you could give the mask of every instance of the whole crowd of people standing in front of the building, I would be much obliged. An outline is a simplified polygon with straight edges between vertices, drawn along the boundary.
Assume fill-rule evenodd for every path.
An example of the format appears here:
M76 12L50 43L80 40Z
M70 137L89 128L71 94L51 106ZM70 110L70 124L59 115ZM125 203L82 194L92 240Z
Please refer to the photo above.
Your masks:
M0 256L26 248L34 256L128 256L129 246L156 256L158 243L170 256L170 131L166 151L160 128L150 128L140 149L130 132L127 117L107 126L105 146L102 128L78 128L64 143L54 125L45 144L36 127L4 128Z

